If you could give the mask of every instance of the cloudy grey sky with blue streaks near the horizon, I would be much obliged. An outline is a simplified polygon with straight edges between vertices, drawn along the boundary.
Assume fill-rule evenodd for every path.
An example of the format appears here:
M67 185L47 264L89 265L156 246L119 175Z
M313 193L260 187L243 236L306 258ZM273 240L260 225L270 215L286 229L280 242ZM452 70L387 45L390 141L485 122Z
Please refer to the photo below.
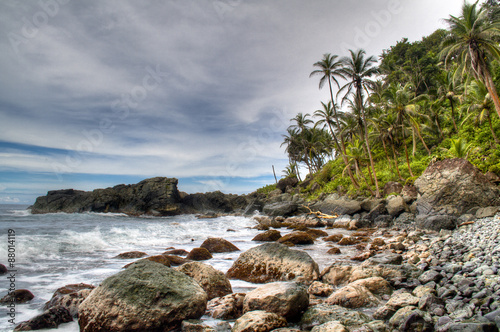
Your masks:
M460 0L2 0L0 204L176 177L249 193L283 134L327 101L324 53L379 56Z

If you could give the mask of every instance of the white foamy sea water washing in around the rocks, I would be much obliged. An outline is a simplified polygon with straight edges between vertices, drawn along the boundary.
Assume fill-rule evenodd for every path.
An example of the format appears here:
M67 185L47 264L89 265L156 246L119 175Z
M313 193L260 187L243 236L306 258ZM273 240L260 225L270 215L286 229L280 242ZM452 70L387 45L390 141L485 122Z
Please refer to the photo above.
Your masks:
M198 219L194 215L182 215L153 218L104 213L32 215L27 207L0 205L0 263L8 267L9 252L11 258L13 253L16 289L28 289L35 295L29 303L16 305L15 324L9 322L9 308L0 306L2 332L12 331L18 323L42 313L43 305L57 288L74 283L99 285L134 261L114 258L120 253L138 250L157 255L171 247L190 251L208 237L222 237L241 251L214 254L214 258L205 263L226 272L241 252L260 244L251 241L259 231L253 229L257 222L248 217ZM290 232L283 228L280 231L282 234ZM314 245L301 246L318 262L320 270L333 263L333 256L325 254L326 245L319 240ZM0 276L2 297L10 285L9 275ZM232 280L231 284L233 292L247 292L257 286L239 280ZM208 317L203 318L209 325L216 323ZM72 322L52 331L78 330L77 322Z

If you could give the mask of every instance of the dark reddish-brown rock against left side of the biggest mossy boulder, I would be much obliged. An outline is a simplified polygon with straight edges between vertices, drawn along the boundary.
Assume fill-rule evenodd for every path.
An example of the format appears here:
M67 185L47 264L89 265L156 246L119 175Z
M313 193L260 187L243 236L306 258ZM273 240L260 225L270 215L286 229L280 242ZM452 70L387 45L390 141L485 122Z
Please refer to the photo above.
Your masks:
M77 317L78 307L94 288L93 285L83 283L58 288L52 298L45 303L43 309L48 310L52 307L61 306L68 309L71 316Z

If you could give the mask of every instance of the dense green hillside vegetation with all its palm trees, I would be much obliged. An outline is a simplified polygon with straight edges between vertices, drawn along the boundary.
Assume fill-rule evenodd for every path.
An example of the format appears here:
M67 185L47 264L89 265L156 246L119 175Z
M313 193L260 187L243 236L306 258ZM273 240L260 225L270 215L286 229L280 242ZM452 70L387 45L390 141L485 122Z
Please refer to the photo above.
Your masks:
M443 158L500 175L499 5L464 3L446 21L448 30L384 50L378 66L364 50L314 63L329 99L291 119L286 175L305 167L319 192L374 196Z

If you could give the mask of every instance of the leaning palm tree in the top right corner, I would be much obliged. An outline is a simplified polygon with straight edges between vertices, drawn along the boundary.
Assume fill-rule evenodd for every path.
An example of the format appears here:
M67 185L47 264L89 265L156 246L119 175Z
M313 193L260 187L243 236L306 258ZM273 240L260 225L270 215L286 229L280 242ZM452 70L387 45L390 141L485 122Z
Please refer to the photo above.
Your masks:
M486 86L500 117L500 100L489 68L493 59L500 59L500 10L478 8L478 2L464 2L461 15L446 20L449 35L443 40L441 55L445 64L456 58L463 73L472 73Z

